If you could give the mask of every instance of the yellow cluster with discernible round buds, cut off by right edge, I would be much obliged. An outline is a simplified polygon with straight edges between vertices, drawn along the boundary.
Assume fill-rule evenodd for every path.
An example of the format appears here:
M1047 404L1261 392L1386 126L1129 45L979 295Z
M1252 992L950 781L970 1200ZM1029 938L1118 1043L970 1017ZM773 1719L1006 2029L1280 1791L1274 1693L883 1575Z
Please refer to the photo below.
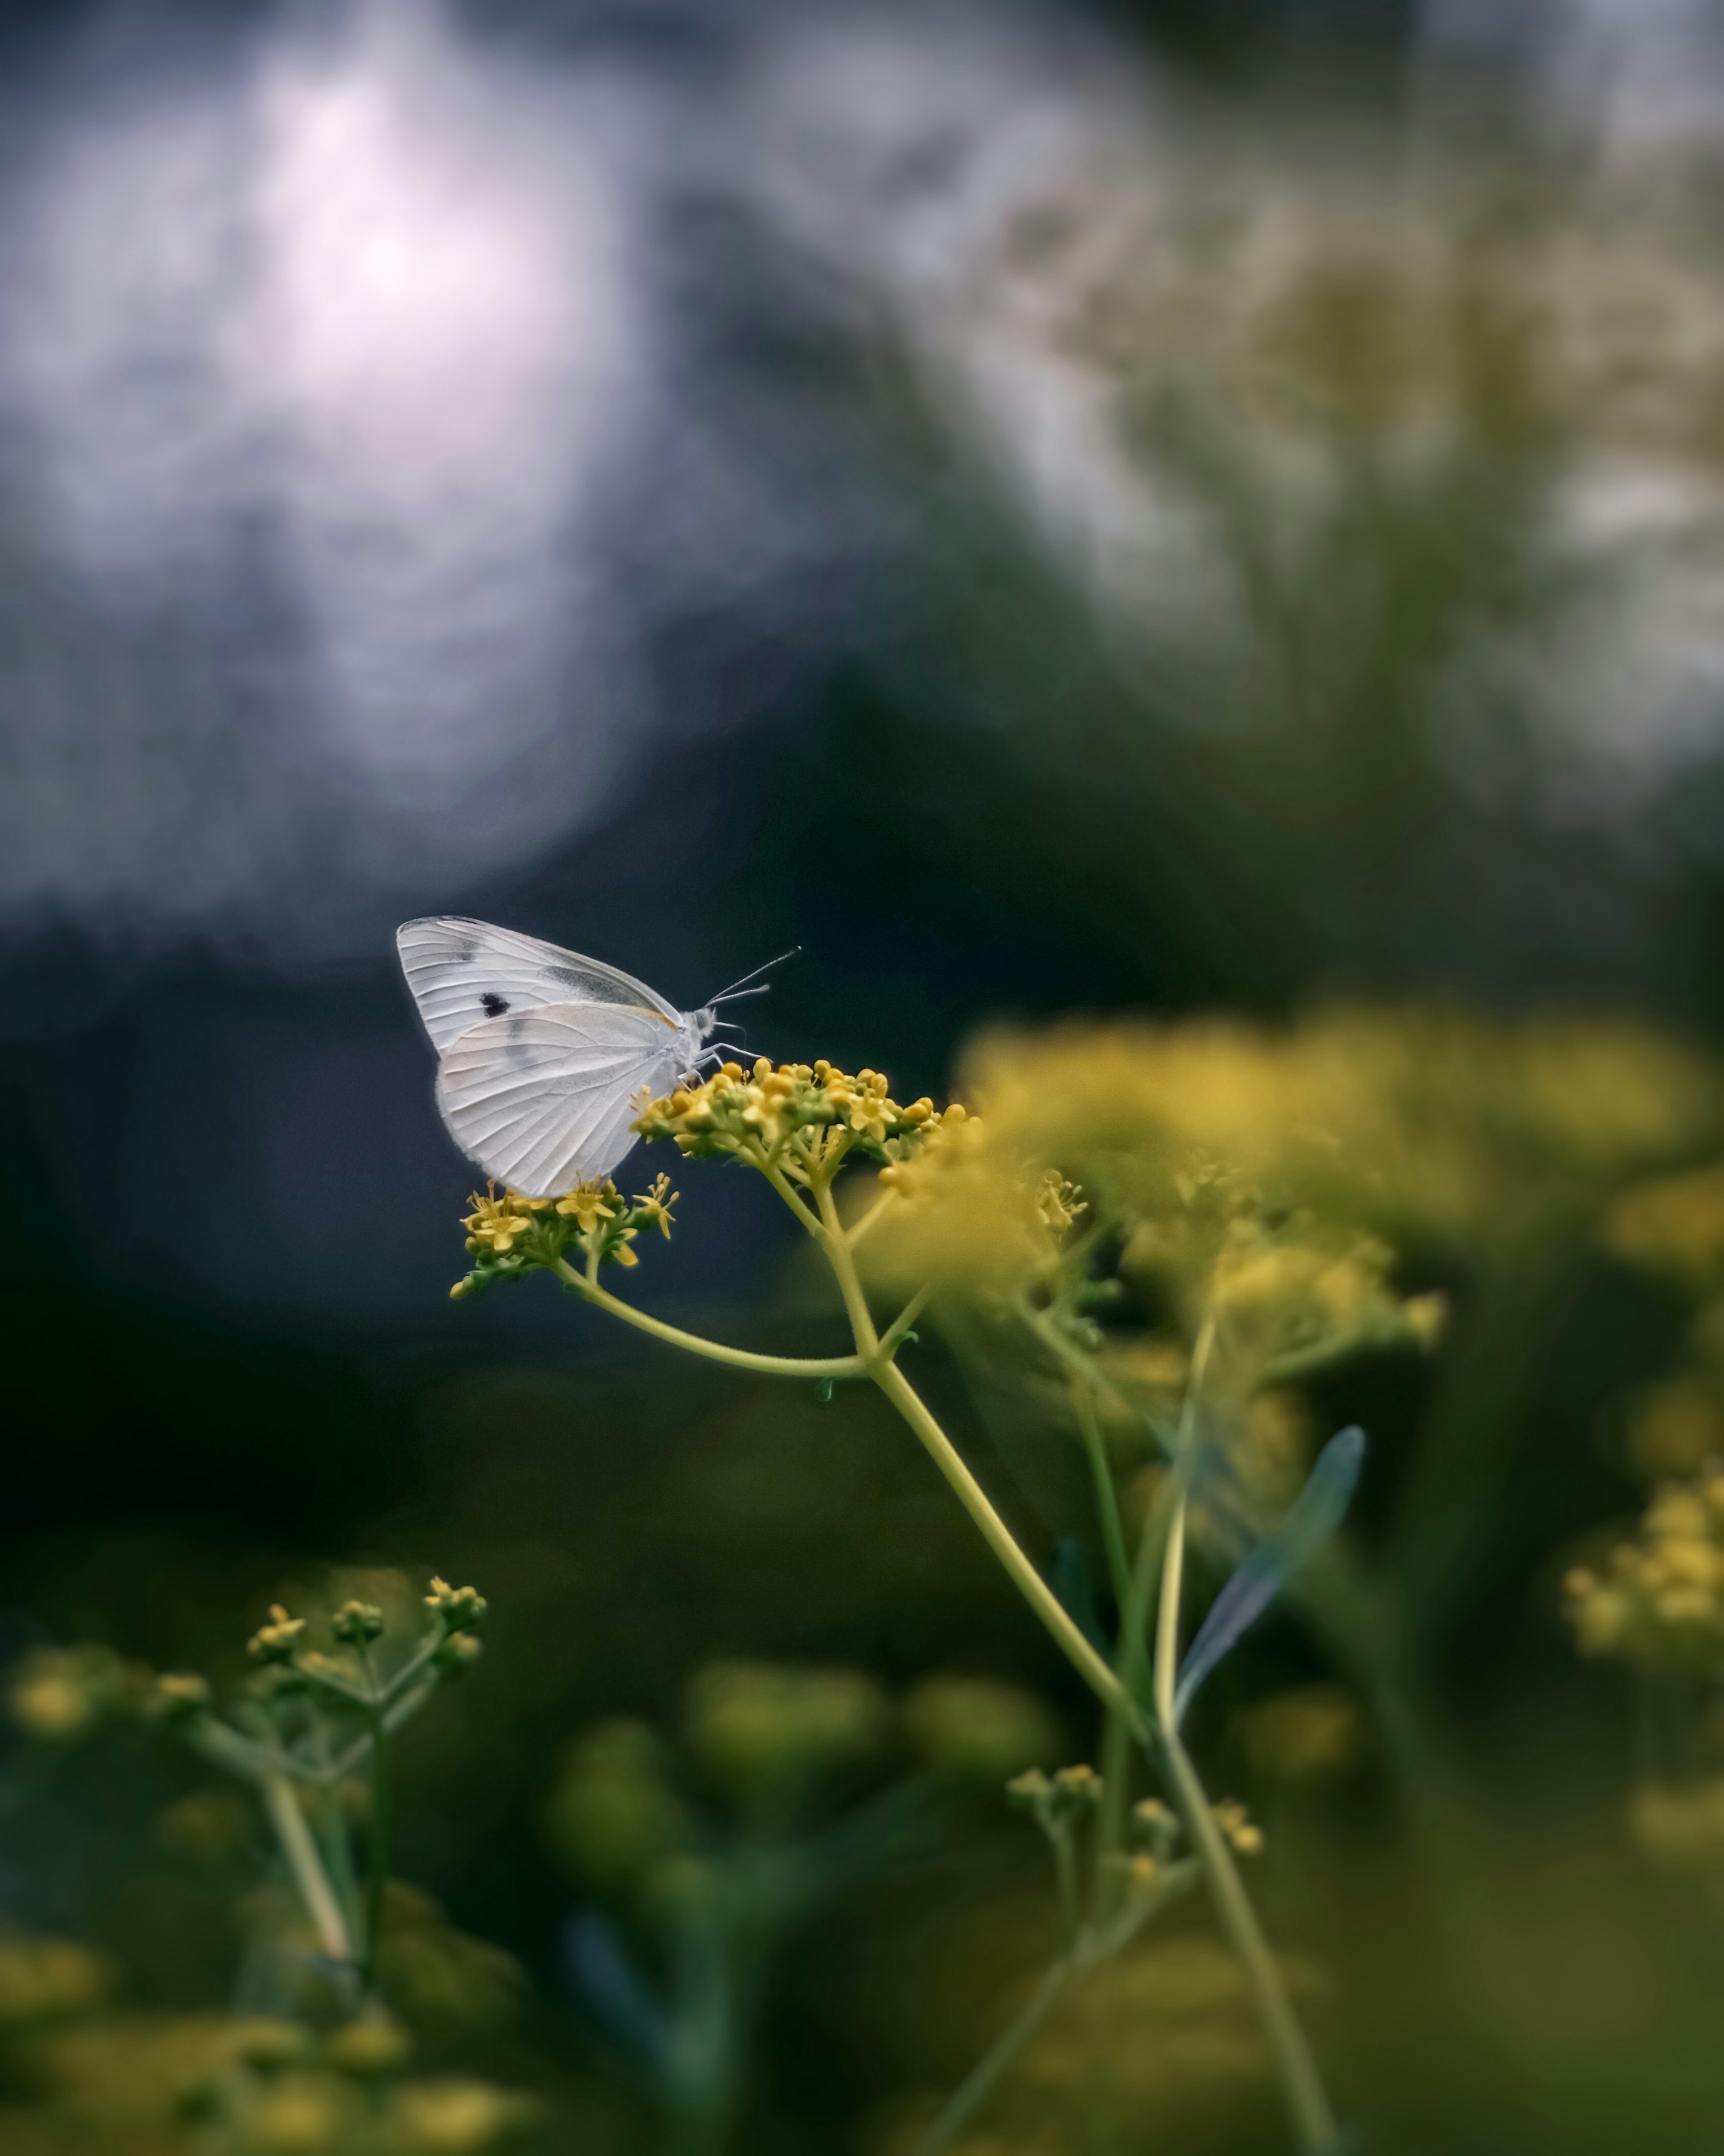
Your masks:
M1601 1567L1562 1580L1584 1654L1724 1675L1724 1468L1666 1483Z

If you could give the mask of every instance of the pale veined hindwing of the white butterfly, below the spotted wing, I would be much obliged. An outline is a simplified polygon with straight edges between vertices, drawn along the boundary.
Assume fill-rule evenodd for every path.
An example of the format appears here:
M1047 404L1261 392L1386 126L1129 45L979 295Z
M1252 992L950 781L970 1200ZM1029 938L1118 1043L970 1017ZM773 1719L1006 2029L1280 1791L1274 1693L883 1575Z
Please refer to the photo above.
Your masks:
M668 1091L679 1063L679 1033L657 1011L547 1003L459 1033L437 1067L437 1106L468 1160L545 1199L610 1175L636 1143L636 1095Z

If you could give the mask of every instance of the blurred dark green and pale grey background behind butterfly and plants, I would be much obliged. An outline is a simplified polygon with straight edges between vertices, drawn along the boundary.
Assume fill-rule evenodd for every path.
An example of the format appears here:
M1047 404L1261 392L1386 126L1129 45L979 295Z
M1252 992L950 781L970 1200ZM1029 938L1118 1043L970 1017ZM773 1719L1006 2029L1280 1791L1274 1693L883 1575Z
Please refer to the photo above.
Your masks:
M679 1003L800 944L750 1046L905 1100L1073 1011L1709 1041L1724 32L1504 17L6 11L0 1649L231 1671L319 1567L478 1585L399 1871L517 1960L425 2042L541 2091L550 2147L657 2145L571 1971L584 1731L683 1742L715 1656L1009 1680L1071 1759L1095 1729L884 1404L547 1283L446 1300L470 1175L392 927L502 921ZM642 1300L840 1352L769 1194L681 1188ZM1368 1736L1254 1761L1250 1710L1330 1675L1291 1619L1205 1725L1371 2147L1724 2145L1715 1884L1629 1835L1631 1699L1558 1617L1683 1322L1575 1257L1515 1330L1491 1533L1420 1641L1459 1871ZM1082 1548L1069 1464L920 1352L1037 1554ZM1429 1382L1325 1401L1371 1427L1366 1546ZM4 1921L134 2009L220 2007L261 1839L164 1839L198 1777L162 1738L4 1742ZM1032 1835L953 1800L791 1936L733 2147L892 2147L1049 1910ZM1127 2061L1142 2139L1058 2124L1056 2059L976 2156L1280 2145L1209 1940L1181 1912L1067 2040ZM1209 2037L1157 2050L1181 2016Z

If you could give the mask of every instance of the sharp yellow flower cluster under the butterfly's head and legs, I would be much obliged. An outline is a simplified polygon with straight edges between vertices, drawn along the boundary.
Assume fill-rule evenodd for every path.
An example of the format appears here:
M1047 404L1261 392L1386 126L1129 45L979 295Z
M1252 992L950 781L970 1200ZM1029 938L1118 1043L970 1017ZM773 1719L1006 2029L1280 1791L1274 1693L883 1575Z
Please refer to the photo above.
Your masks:
M808 1184L851 1151L884 1164L909 1160L963 1123L959 1102L946 1110L927 1097L899 1106L888 1084L886 1072L851 1076L825 1056L778 1065L761 1056L748 1072L722 1063L703 1084L649 1102L634 1128L644 1138L675 1138L694 1158L733 1153Z

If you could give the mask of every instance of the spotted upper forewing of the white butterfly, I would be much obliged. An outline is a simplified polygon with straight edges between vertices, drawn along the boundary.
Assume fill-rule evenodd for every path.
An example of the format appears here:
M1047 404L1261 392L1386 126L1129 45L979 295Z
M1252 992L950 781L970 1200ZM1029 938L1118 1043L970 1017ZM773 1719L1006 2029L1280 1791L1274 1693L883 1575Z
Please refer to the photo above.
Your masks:
M470 1026L487 1018L539 1011L552 1003L610 1003L657 1011L677 1022L679 1013L634 975L580 957L537 936L440 914L403 921L394 931L401 970L414 992L418 1015L440 1052Z

